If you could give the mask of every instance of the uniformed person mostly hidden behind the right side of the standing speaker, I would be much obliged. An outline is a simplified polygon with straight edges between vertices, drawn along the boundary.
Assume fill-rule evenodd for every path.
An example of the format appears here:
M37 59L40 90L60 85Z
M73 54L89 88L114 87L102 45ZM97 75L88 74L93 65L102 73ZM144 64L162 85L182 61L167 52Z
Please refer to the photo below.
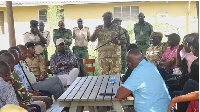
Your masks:
M114 25L119 25L121 26L121 22L122 20L120 18L115 18L112 23ZM127 30L125 28L122 28L124 32L127 32ZM122 63L122 68L121 68L121 73L124 74L125 73L125 69L126 69L126 48L128 47L128 45L130 44L130 37L128 32L125 33L126 36L126 44L121 46L121 63Z

